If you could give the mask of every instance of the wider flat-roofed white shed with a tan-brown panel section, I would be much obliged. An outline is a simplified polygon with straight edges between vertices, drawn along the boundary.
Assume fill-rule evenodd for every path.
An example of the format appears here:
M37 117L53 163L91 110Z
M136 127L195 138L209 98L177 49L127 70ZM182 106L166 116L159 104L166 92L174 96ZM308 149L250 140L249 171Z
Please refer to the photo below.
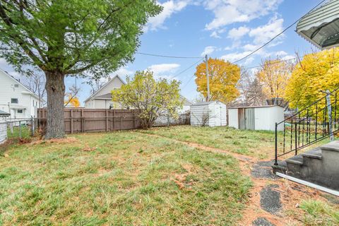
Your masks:
M230 107L228 125L236 129L275 131L275 123L284 120L284 109L279 105Z

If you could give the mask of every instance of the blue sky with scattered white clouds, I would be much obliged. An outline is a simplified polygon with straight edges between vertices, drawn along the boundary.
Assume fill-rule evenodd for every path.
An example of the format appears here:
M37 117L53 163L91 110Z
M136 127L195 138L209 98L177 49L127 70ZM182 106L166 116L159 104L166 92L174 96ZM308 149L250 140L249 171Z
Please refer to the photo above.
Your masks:
M208 54L229 61L242 58L256 47L270 40L320 0L165 0L159 1L164 10L151 18L141 36L138 52L184 57L200 57ZM242 66L256 66L262 59L279 55L289 59L295 52L305 54L314 50L311 44L295 32L295 26L287 30L268 47L239 62ZM136 54L135 60L112 73L125 78L135 71L152 69L157 76L172 77L198 59L167 59ZM0 59L0 67L16 75L6 61ZM195 67L176 78L182 81L181 93L193 100L198 93L194 78ZM66 87L74 78L66 78ZM81 81L78 80L78 84ZM82 85L79 95L81 105L90 95L88 85Z

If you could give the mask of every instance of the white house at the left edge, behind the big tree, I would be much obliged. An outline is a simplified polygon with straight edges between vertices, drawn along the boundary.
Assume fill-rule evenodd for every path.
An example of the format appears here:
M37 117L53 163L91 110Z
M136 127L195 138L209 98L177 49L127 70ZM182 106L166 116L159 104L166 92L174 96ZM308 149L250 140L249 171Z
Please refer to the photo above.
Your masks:
M40 100L20 81L0 69L0 110L11 114L11 118L37 116Z

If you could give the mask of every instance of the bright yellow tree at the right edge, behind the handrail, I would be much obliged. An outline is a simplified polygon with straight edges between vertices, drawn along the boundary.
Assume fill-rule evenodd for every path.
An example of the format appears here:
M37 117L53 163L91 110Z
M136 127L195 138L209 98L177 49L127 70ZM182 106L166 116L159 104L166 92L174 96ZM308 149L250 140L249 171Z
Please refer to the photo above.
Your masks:
M304 56L288 82L286 98L290 107L302 109L323 97L321 90L336 88L339 88L339 49L333 48ZM319 109L325 106L324 101L319 102Z

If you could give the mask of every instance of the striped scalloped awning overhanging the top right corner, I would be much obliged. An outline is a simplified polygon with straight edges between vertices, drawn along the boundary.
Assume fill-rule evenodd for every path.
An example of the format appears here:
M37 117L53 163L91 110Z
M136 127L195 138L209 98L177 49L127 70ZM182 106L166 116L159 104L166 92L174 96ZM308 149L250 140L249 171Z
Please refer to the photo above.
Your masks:
M339 46L339 0L307 13L297 23L296 31L319 49Z

